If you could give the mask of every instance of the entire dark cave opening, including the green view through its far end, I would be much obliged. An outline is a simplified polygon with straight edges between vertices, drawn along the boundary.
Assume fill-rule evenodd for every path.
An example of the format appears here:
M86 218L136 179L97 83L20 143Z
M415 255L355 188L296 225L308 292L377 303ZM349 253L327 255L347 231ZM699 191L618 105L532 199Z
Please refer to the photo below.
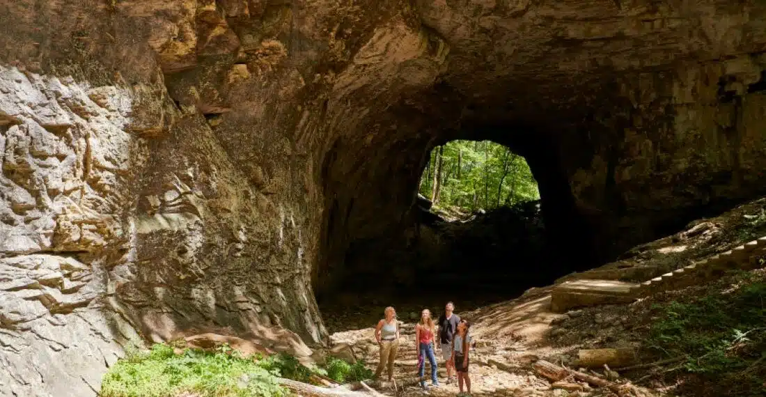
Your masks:
M590 267L594 237L553 143L547 133L512 124L381 146L336 141L322 166L327 209L313 273L319 303L344 293L417 296L465 285L470 294L512 297ZM487 171L493 181L475 195L458 188L473 182L457 172L475 172L483 183L484 162L499 162ZM470 208L472 219L445 220L430 211L432 198Z

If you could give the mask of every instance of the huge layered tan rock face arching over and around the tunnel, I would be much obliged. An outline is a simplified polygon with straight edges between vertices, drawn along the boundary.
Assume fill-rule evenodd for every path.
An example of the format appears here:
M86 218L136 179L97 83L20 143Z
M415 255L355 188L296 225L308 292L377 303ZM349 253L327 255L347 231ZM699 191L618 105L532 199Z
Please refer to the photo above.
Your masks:
M521 153L601 256L766 186L760 2L0 0L0 27L3 396L94 395L195 328L324 340L315 292L407 266L379 254L444 139Z

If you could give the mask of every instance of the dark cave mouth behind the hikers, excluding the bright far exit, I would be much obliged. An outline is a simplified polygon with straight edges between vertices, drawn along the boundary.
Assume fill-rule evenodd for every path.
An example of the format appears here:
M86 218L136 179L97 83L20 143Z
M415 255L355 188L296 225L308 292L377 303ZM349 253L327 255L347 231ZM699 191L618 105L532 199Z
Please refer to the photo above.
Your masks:
M535 229L542 240L536 254L529 254L534 251L530 250L523 258L503 260L502 248L507 244L450 240L453 231L436 226L437 220L424 214L417 192L430 153L457 139L488 140L526 159L538 182L537 215L544 225ZM428 287L455 290L460 285L459 272L466 269L476 276L470 284L475 288L472 294L492 291L514 297L529 287L591 267L595 260L591 229L576 209L559 148L547 133L506 125L450 130L435 138L381 139L379 146L359 139L336 140L322 166L326 212L313 269L317 300L322 304L344 293L385 296L423 294ZM535 212L535 208L529 210ZM503 216L509 217L506 223ZM523 222L514 216L489 212L471 226L492 225L503 236L529 230L519 226ZM464 234L474 240L480 235ZM450 247L450 241L460 244ZM493 266L486 259L472 260L466 254L471 247L488 250L484 256L492 258ZM501 271L503 277L497 277ZM440 279L428 278L437 274Z

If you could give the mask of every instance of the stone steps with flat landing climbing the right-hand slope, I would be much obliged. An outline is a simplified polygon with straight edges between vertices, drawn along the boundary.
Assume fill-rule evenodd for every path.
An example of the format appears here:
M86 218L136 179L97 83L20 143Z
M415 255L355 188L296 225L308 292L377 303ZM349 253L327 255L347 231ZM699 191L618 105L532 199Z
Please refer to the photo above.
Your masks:
M712 281L726 271L748 271L764 267L766 266L764 261L766 261L766 236L643 283L614 280L566 281L553 288L551 310L555 313L563 313L575 307L630 303L640 297L647 297L658 292Z

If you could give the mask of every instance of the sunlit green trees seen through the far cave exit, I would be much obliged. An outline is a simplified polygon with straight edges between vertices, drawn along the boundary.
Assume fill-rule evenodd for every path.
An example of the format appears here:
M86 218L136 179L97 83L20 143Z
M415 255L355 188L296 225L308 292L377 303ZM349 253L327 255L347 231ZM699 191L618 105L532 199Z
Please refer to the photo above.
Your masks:
M426 198L433 197L434 174L440 185L434 205L489 209L540 198L525 159L489 141L456 140L432 150L421 176Z

